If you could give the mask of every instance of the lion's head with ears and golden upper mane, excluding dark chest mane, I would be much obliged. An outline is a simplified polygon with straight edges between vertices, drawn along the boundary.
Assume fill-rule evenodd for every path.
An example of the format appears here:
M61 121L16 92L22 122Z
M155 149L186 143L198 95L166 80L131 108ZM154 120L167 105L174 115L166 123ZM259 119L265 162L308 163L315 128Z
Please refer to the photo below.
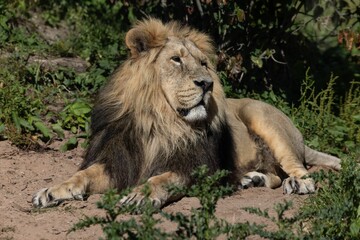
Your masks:
M161 135L174 145L187 142L184 138L196 140L209 127L219 128L225 97L206 34L148 19L137 23L125 41L131 55L99 99L101 107L114 109L109 110L110 121L131 115L138 134Z

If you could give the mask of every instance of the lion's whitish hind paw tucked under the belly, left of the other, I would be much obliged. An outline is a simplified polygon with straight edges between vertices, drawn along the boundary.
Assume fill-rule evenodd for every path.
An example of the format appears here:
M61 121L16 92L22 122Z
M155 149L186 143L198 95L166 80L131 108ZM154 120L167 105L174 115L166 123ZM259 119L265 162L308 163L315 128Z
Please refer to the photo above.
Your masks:
M272 173L248 172L241 179L241 188L268 187L277 188L281 186L281 179Z

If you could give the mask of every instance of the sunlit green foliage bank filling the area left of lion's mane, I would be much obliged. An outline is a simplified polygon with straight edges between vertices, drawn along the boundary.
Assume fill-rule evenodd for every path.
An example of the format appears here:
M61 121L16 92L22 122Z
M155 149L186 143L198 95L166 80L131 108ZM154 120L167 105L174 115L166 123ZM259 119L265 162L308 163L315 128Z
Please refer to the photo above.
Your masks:
M13 1L0 5L0 138L37 148L70 139L61 150L87 138L92 98L126 55L121 29L130 22L121 2ZM101 11L103 17L98 17ZM31 13L30 13L31 12ZM45 21L34 22L33 16ZM41 15L41 16L40 16ZM111 23L111 24L109 24ZM35 25L58 28L55 39ZM65 27L64 27L65 26ZM65 34L61 35L61 30ZM46 32L46 31L45 31ZM3 54L4 53L4 54ZM84 72L37 64L30 59L81 56ZM41 141L39 141L41 140Z

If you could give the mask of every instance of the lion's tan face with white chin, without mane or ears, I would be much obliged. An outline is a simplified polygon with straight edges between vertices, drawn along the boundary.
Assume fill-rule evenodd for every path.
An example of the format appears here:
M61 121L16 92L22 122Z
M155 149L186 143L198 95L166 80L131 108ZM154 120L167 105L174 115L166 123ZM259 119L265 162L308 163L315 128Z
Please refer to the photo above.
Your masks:
M207 56L193 42L171 37L156 64L171 108L188 122L207 119L214 84Z

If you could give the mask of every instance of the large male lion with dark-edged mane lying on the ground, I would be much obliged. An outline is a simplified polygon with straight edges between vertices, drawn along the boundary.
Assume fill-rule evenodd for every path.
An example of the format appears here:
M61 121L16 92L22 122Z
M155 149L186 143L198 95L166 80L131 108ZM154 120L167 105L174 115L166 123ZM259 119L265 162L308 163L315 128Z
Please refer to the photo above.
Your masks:
M182 196L191 173L231 172L239 188L282 186L285 194L315 192L306 166L341 168L340 159L304 144L280 110L252 99L227 99L214 67L211 38L177 22L149 18L128 31L129 58L100 91L80 169L43 188L35 207L84 200L108 189L134 187L120 204L141 204L144 184L155 207Z

